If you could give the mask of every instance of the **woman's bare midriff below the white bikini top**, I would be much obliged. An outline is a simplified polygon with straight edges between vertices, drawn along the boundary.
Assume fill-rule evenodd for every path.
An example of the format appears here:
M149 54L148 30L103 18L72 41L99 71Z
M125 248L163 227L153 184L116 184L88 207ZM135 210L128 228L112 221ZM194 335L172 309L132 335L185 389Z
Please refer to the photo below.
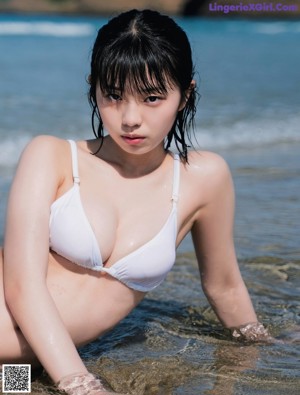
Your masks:
M76 345L104 334L145 296L55 253L49 254L47 286Z

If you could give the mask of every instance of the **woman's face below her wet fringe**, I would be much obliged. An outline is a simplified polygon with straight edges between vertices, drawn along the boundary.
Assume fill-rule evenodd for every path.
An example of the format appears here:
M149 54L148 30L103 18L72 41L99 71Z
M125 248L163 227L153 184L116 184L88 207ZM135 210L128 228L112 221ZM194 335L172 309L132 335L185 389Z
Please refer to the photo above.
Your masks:
M124 151L145 154L163 147L177 113L182 109L179 88L168 88L166 93L123 94L112 88L110 92L96 92L97 105L105 130Z

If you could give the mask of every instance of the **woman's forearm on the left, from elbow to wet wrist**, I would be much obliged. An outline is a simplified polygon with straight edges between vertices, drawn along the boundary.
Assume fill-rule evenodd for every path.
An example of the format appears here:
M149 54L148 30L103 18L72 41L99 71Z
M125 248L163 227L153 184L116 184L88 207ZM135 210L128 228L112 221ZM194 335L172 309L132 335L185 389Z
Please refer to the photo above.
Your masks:
M7 303L23 335L54 382L86 372L45 286L7 292Z

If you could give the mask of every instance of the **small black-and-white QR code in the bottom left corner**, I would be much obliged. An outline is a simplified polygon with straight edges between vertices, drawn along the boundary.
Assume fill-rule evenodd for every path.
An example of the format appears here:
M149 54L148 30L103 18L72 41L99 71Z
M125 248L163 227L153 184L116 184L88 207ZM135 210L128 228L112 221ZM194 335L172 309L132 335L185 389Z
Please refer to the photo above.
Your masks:
M3 393L30 393L31 366L30 365L2 365Z

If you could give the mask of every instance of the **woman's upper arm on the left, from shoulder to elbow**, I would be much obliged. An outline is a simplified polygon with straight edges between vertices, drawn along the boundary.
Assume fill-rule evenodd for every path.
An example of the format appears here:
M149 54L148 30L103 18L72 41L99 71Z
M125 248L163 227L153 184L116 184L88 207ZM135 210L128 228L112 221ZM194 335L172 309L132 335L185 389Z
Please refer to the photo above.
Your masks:
M5 280L35 281L46 275L49 215L61 174L59 140L36 137L21 155L8 199Z

